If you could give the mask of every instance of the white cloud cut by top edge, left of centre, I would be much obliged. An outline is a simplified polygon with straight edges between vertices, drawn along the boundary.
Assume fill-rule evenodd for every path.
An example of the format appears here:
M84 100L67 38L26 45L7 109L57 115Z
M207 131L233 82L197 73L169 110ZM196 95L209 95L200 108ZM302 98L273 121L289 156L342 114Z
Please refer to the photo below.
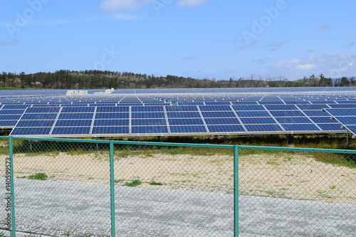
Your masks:
M103 11L136 11L154 0L105 0L100 4Z

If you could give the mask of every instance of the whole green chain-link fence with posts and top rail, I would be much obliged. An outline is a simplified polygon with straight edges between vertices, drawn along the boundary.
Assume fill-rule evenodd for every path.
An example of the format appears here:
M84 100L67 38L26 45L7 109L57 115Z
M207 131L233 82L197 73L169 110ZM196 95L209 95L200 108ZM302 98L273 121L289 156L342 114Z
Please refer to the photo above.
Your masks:
M0 157L0 236L356 236L353 150L0 137Z

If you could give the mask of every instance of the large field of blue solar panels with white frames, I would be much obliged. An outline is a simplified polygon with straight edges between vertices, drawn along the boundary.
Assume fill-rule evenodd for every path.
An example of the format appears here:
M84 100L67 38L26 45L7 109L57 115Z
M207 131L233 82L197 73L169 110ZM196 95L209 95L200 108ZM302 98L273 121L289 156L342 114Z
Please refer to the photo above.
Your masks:
M123 89L70 96L0 92L0 127L13 128L14 136L43 137L345 133L342 125L355 134L356 90L343 89ZM341 111L349 111L348 120Z

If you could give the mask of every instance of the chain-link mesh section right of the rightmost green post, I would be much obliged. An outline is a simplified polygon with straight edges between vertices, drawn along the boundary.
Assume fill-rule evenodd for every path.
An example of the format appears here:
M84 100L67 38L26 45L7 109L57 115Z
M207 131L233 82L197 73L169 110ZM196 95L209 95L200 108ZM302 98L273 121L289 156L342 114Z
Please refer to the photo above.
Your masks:
M239 149L241 233L356 236L356 155Z

